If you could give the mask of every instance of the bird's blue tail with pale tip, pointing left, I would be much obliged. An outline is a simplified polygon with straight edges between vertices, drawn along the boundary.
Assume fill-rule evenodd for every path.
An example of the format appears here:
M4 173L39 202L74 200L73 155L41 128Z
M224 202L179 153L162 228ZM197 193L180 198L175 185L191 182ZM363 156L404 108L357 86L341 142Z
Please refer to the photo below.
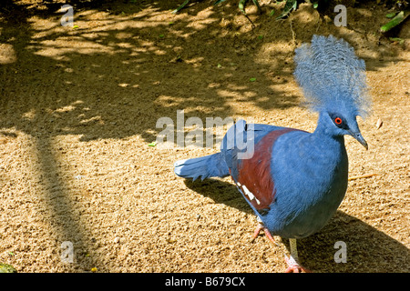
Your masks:
M174 164L174 172L184 178L197 178L201 180L212 176L229 176L228 166L220 153L210 156L200 156L188 160L179 160Z

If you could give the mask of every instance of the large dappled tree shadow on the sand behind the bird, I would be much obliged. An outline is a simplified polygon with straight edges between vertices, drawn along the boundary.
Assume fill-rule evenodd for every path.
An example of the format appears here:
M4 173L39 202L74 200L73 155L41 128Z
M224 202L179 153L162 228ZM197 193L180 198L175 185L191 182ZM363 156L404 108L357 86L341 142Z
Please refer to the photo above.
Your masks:
M48 135L79 135L82 141L139 135L151 142L162 129L158 119L175 120L181 109L185 118L223 119L251 115L250 106L297 106L299 93L283 88L294 82L288 47L309 41L322 28L297 27L307 20L296 15L297 38L281 21L277 32L261 39L266 15L241 34L251 26L246 18L235 20L236 6L196 3L184 9L188 16L174 15L169 22L164 11L170 14L179 1L72 1L78 26L73 29L60 24L58 3L45 3L48 9L9 0L3 8L0 44L14 59L2 65L0 75L2 126L29 134L46 127ZM299 33L302 28L308 32ZM255 52L270 42L283 48L270 49L269 61L261 62ZM373 68L384 63L371 62Z

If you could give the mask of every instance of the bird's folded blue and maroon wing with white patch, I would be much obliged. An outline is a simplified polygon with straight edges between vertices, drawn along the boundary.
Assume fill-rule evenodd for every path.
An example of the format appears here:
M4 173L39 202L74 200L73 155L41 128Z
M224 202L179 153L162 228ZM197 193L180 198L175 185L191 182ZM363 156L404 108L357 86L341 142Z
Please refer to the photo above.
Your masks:
M291 131L295 129L273 125L247 125L241 120L230 128L222 141L221 153L231 177L241 194L257 212L268 210L274 199L271 166L273 145L281 135ZM246 146L241 148L241 143ZM251 156L241 156L250 149Z

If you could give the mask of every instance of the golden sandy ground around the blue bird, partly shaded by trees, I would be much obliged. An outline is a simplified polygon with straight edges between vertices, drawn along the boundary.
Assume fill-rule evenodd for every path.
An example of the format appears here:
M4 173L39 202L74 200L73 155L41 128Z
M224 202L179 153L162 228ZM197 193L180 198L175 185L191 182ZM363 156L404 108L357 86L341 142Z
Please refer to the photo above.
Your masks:
M313 131L293 51L333 34L364 58L374 100L360 120L369 150L346 137L349 176L376 175L349 182L330 223L299 240L299 255L314 272L409 272L409 23L390 35L400 44L377 32L384 5L349 6L347 27L336 27L332 9L309 5L275 21L282 5L269 2L262 15L248 5L254 27L236 1L193 2L173 15L180 0L145 0L76 6L73 28L60 24L61 3L8 1L0 262L19 272L282 272L287 242L250 242L257 222L229 178L174 176L176 160L217 146L148 145L159 118L176 125L182 109L204 124L232 117ZM346 263L333 260L338 241Z

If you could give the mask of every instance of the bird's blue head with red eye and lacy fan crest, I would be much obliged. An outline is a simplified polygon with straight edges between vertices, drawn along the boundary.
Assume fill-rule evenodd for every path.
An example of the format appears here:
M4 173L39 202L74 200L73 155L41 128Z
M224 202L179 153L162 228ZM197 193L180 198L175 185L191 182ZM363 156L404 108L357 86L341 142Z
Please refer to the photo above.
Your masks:
M312 44L295 52L296 81L306 104L320 114L319 123L330 135L352 135L367 149L356 117L370 111L364 60L354 48L332 35L313 35Z

